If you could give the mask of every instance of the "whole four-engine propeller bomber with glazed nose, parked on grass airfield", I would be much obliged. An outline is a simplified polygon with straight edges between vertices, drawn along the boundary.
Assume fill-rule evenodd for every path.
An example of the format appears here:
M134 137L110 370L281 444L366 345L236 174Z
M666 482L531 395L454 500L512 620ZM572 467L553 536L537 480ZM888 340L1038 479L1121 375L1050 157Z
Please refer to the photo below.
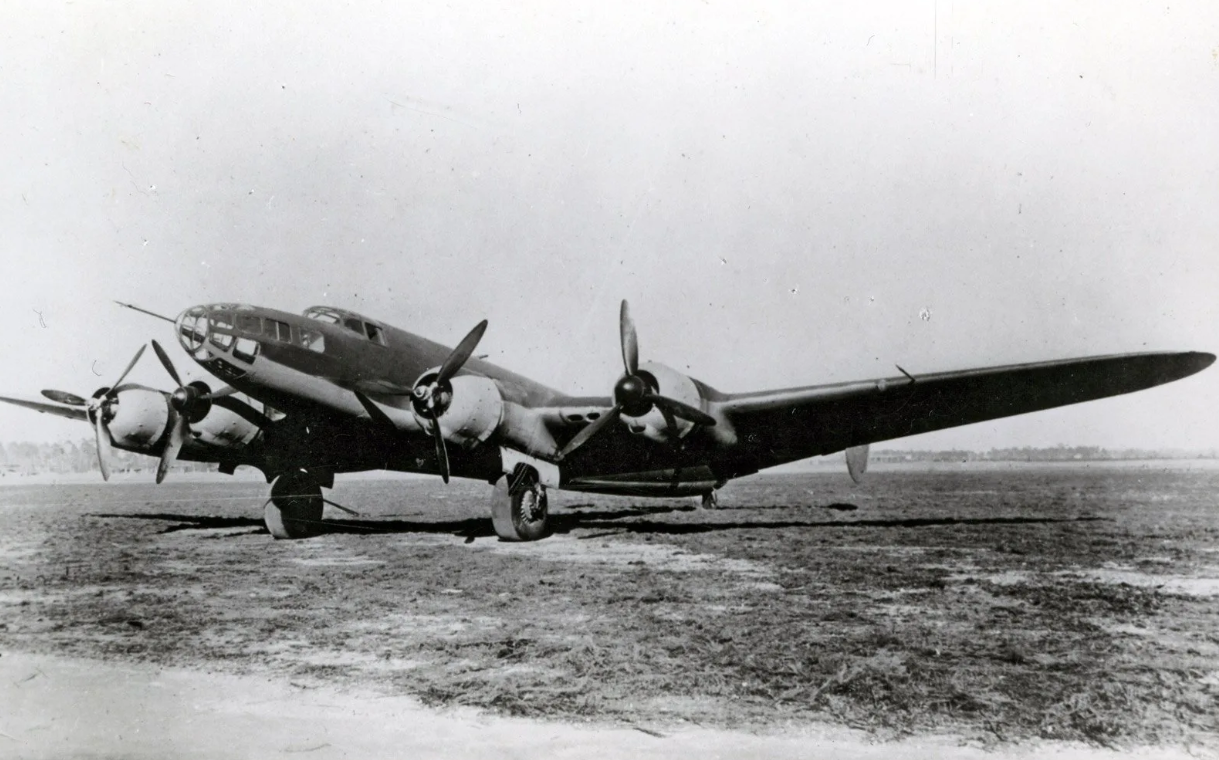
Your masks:
M132 307L173 322L182 348L226 385L184 384L152 340L173 392L123 383L141 346L89 399L44 390L55 404L0 400L89 421L102 477L110 446L160 457L157 483L176 459L217 462L226 473L257 467L272 483L263 512L275 538L316 534L322 488L362 470L488 481L495 532L508 540L546 534L547 488L701 494L711 505L731 478L842 450L858 481L870 443L1141 390L1215 359L1121 354L917 377L898 367L897 377L720 393L640 362L623 301L624 372L610 398L575 398L472 357L485 321L450 350L328 306L294 315L211 304L177 320Z

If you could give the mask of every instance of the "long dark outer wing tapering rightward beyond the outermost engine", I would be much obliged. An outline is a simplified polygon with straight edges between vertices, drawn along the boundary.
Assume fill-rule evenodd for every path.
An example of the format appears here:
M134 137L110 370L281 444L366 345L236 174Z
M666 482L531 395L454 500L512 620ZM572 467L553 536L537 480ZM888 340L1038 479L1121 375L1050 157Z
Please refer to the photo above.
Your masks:
M1199 372L1212 354L1091 356L918 377L720 394L713 401L758 465L1152 388Z

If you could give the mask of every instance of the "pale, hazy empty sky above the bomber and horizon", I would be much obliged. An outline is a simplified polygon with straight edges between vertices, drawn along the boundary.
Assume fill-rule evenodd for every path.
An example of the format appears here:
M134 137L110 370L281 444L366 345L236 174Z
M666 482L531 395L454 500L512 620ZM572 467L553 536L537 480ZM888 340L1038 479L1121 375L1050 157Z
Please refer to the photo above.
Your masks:
M0 394L205 377L116 299L599 395L624 298L724 392L1219 351L1219 5L847 5L0 4ZM1219 448L1219 370L886 448L1059 443Z

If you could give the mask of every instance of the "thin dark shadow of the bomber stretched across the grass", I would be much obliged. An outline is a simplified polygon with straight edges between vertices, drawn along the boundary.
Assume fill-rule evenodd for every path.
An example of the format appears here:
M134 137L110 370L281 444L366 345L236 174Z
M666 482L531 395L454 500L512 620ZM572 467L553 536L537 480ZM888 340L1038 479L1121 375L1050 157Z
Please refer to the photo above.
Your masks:
M850 505L847 505L850 506ZM831 509L840 509L841 505L833 505ZM752 507L737 507L740 510ZM696 511L692 506L652 506L633 507L624 510L600 510L581 511L578 514L560 512L551 516L551 532L566 534L574 529L597 531L591 536L580 538L599 538L617 533L646 533L661 536L684 536L696 533L709 533L716 531L781 531L787 528L923 528L942 526L979 526L979 525L1052 525L1064 522L1095 522L1104 521L1106 517L906 517L895 520L781 520L781 521L705 521L705 522L664 522L659 520L647 520L650 516L659 516L672 512ZM723 510L717 510L723 511ZM208 531L226 528L250 528L241 533L230 533L224 538L249 536L252 533L266 533L267 529L262 520L256 517L218 517L210 515L173 515L173 514L147 514L147 515L122 515L90 512L89 517L122 518L122 520L150 520L161 522L173 522L161 533L174 533L178 531ZM633 517L645 517L644 520L630 520ZM467 517L463 520L324 520L319 525L319 533L433 533L464 537L467 540L478 538L492 538L495 532L491 521L486 517Z

